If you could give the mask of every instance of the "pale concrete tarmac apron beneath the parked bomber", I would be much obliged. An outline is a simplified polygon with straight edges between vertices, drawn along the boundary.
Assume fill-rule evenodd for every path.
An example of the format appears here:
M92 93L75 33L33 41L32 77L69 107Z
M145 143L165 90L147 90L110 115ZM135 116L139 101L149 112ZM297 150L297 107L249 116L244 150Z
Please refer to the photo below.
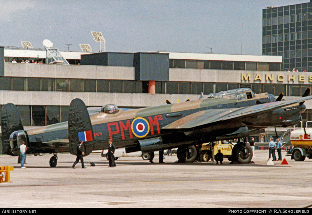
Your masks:
M0 166L14 166L12 183L1 183L0 208L302 208L312 204L312 160L266 165L268 150L256 150L254 164L175 163L166 156L159 164L141 157L122 157L107 168L100 153L92 153L81 169L76 156L27 155L26 169L17 157L0 155ZM277 155L277 153L276 153Z

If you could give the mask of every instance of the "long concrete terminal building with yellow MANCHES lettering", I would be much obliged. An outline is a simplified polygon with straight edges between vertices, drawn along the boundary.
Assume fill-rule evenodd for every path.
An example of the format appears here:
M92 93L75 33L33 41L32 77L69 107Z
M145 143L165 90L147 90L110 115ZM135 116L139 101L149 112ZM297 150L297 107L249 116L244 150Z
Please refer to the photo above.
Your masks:
M4 63L7 59L19 62L27 59L17 58L20 53L9 52L13 56L5 53L6 48L0 47L0 105L15 104L26 129L67 121L69 104L74 98L81 98L87 107L113 103L140 108L165 105L166 100L171 103L196 100L201 92L207 98L210 93L235 88L251 88L255 93L275 96L284 93L287 99L301 96L312 85L312 72L280 71L281 56L71 53L79 56L72 59L79 64L64 65ZM311 121L312 103L307 101L305 105L303 120Z

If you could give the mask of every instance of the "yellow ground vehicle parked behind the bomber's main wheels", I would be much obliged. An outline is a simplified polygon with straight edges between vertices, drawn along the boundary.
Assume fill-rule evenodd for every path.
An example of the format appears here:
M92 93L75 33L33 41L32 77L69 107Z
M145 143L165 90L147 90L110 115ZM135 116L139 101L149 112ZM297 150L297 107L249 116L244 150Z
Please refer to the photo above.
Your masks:
M232 161L232 148L236 143L223 143L222 141L217 141L214 146L214 154L218 153L218 150L221 150L223 158L227 158ZM211 159L211 151L209 143L202 144L202 161L208 161Z

